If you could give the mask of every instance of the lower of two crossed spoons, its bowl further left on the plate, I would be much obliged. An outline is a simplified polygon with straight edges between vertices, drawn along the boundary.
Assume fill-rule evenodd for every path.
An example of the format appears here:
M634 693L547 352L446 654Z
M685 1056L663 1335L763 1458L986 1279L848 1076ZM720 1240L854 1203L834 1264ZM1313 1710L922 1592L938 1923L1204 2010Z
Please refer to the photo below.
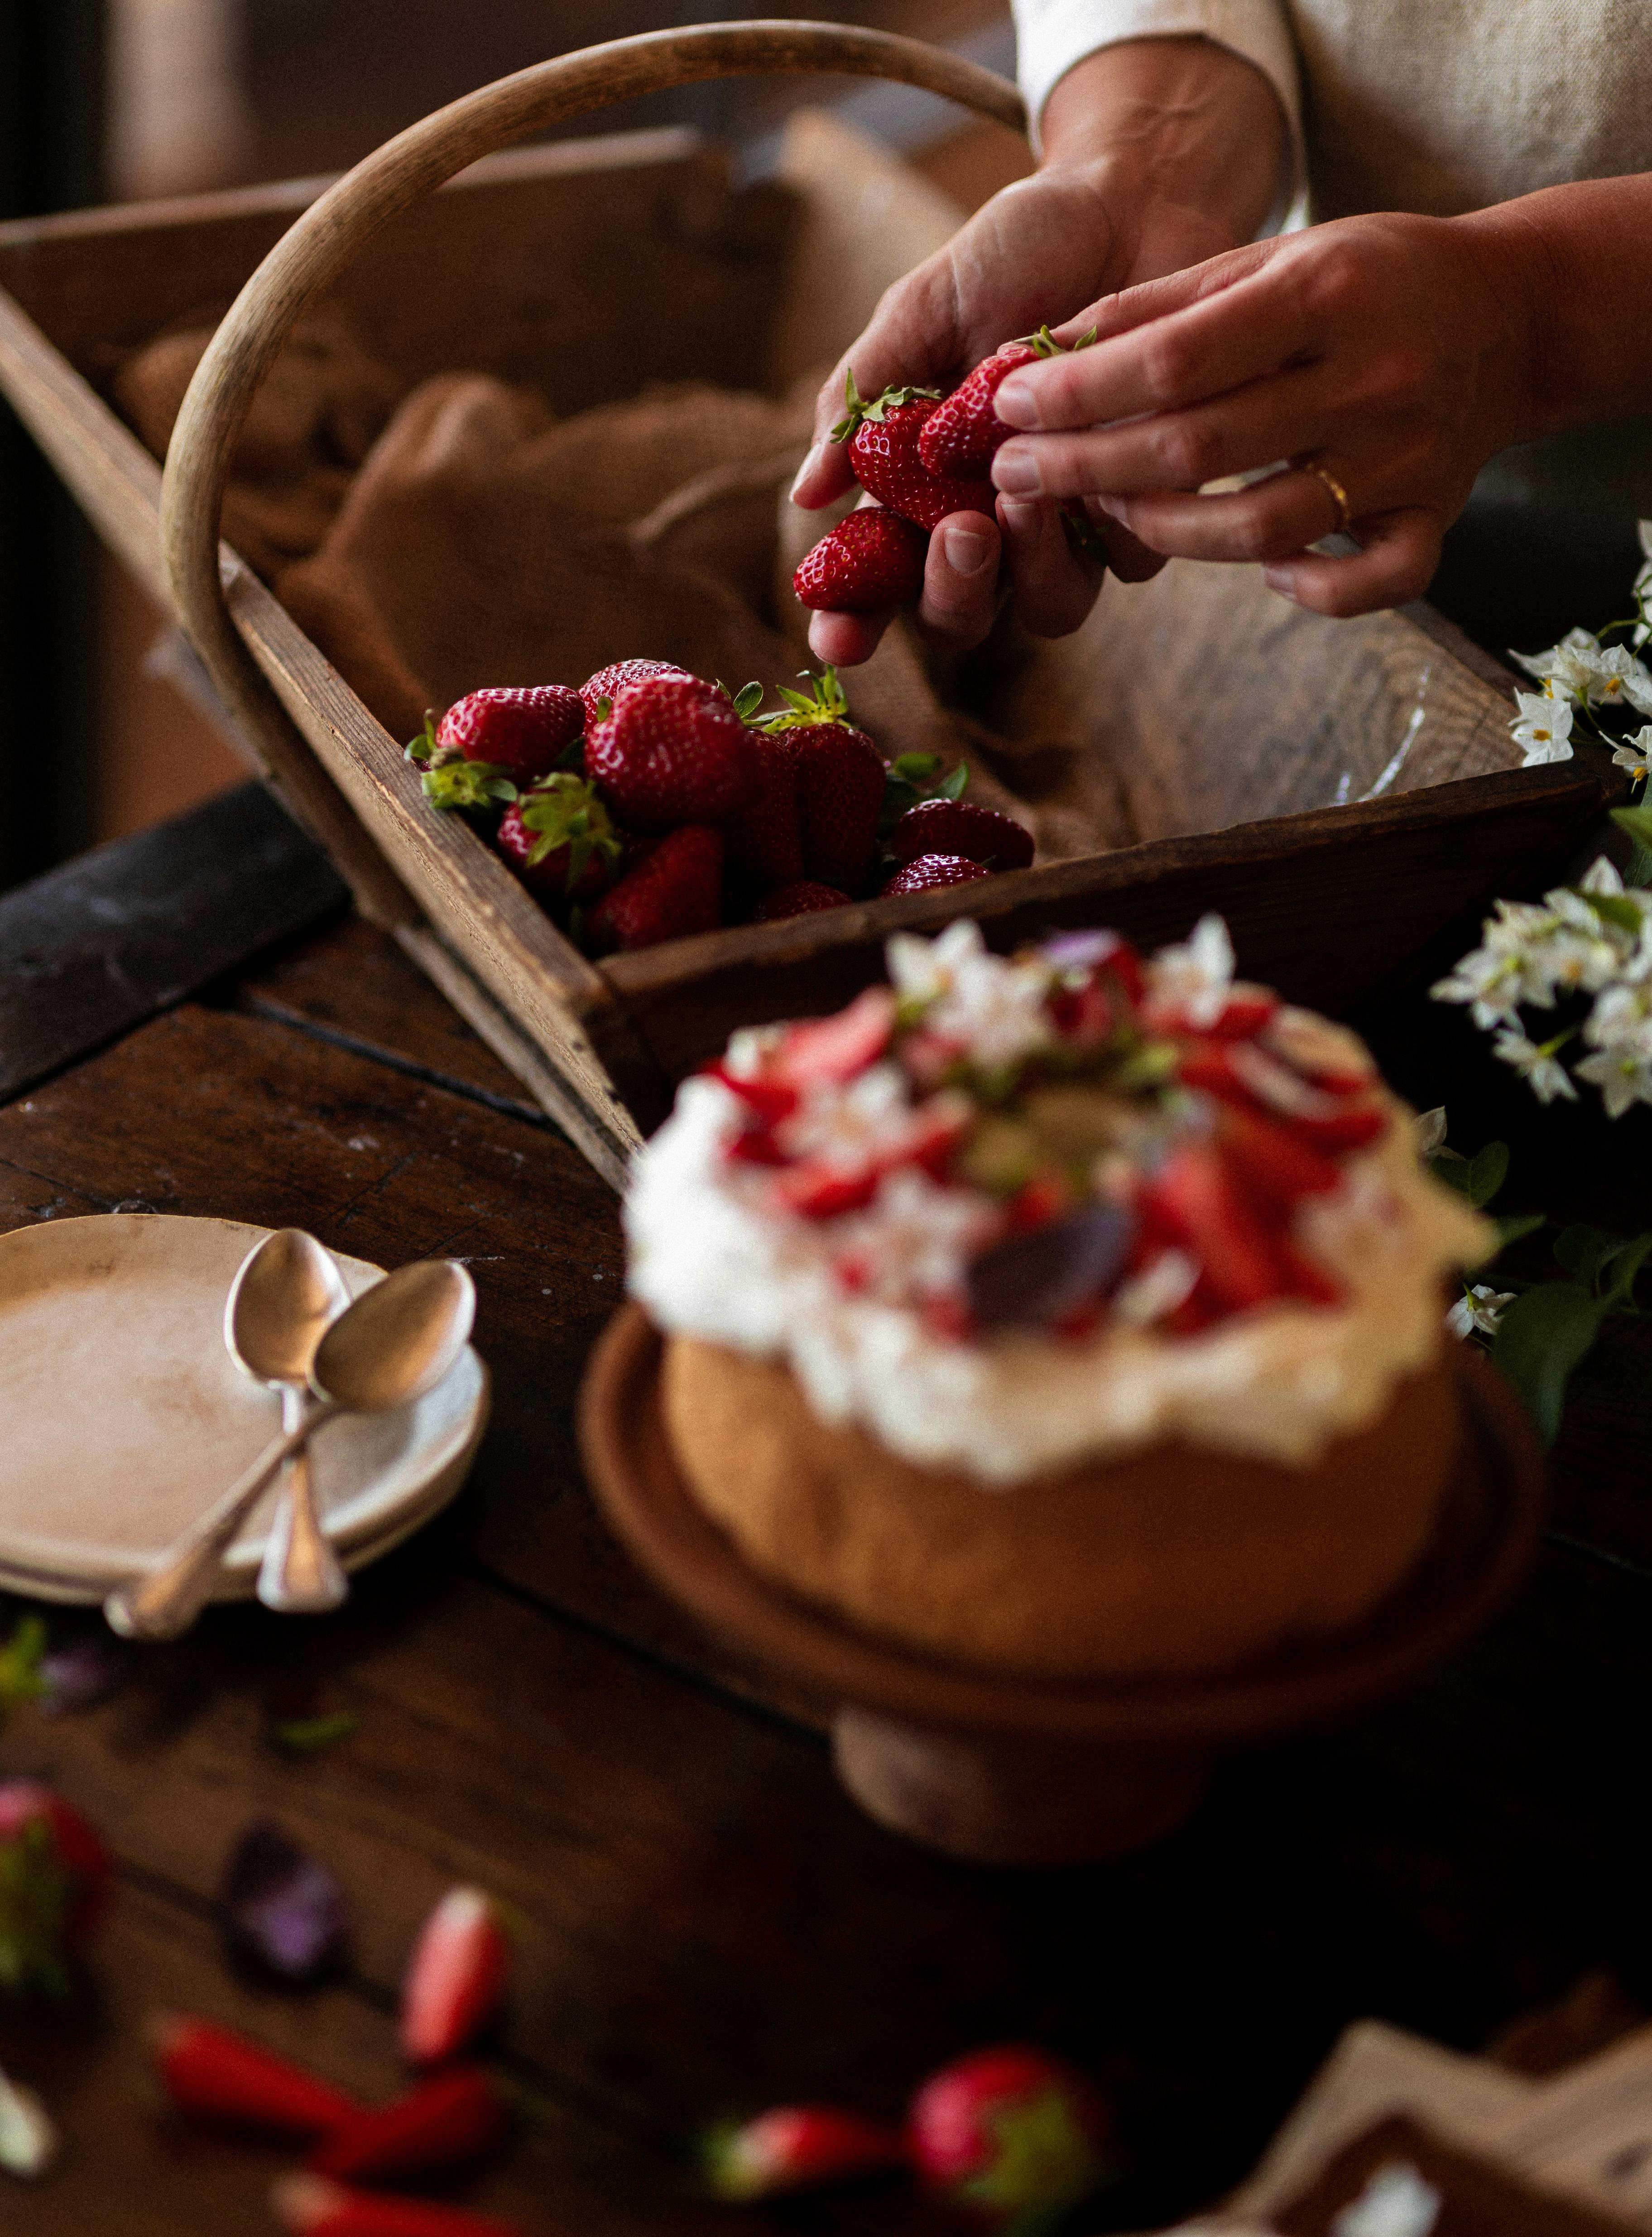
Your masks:
M282 1394L282 1429L304 1420L315 1349L349 1302L333 1253L302 1228L266 1235L237 1273L224 1342L244 1376ZM257 1597L277 1615L324 1615L349 1588L315 1512L311 1456L300 1452L282 1483Z

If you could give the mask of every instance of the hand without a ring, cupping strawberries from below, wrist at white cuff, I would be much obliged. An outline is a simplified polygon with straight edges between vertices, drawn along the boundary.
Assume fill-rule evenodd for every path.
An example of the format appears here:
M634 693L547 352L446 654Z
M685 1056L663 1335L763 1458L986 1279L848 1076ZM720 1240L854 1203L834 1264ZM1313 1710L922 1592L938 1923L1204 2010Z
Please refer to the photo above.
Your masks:
M829 443L849 367L863 396L892 383L948 387L1017 333L1229 248L1268 210L1281 132L1261 74L1207 40L1127 40L1080 63L1044 112L1046 168L896 282L841 358L820 391L794 503L827 506L854 479L847 450ZM1127 579L1162 566L1124 528L1109 523L1107 544L1109 566ZM979 644L1001 577L1039 635L1077 629L1102 579L1069 548L1053 501L1004 497L995 517L955 515L932 535L919 626L941 644ZM854 667L885 624L816 613L809 644L820 660Z

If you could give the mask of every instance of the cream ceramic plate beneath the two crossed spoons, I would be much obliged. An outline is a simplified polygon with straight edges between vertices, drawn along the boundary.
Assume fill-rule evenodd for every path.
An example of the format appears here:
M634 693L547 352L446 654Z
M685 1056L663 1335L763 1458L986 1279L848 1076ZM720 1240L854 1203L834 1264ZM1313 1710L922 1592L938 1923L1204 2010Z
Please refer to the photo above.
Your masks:
M154 1561L282 1423L279 1394L224 1349L224 1300L268 1228L114 1212L0 1235L0 1586L103 1599ZM351 1295L380 1266L340 1257ZM329 1423L315 1494L346 1568L429 1521L487 1423L465 1351L418 1405ZM228 1552L219 1599L246 1599L275 1492Z

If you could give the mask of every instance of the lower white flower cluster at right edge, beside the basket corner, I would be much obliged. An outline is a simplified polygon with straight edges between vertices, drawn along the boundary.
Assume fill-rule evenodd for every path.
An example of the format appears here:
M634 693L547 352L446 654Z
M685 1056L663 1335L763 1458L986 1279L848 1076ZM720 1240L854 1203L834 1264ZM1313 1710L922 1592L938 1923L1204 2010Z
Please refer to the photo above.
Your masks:
M1558 886L1534 902L1498 902L1482 942L1433 989L1437 1002L1466 1002L1493 1054L1513 1065L1542 1103L1576 1101L1578 1080L1601 1089L1607 1118L1652 1103L1652 893L1627 890L1601 857L1580 886ZM1560 995L1592 995L1583 1027L1536 1042L1520 1009L1554 1009ZM1558 1051L1574 1033L1592 1049L1574 1074Z

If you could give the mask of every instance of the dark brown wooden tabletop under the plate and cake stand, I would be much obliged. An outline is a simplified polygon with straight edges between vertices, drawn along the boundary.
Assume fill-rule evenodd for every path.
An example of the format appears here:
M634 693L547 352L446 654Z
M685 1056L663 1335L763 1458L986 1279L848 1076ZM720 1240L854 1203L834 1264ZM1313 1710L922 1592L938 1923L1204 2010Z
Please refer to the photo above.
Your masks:
M1645 1112L1540 1114L1415 991L1364 1022L1458 1145L1516 1143L1513 1208L1645 1224ZM452 1253L496 1376L469 1490L346 1611L215 1613L101 1707L0 1738L0 1772L63 1787L121 1861L85 1993L0 2016L67 2136L49 2183L0 2188L9 2237L273 2226L284 2156L170 2116L143 2016L203 2011L387 2096L409 1939L461 1879L525 1919L501 2065L528 2105L463 2194L545 2237L939 2228L899 2190L722 2208L693 2136L796 2098L896 2114L999 2038L1115 2094L1136 2174L1080 2228L1145 2228L1236 2179L1359 2013L1475 2047L1589 1966L1652 1980L1639 1331L1583 1371L1540 1570L1478 1644L1234 1763L1133 1863L995 1872L861 1819L818 1705L735 1669L610 1544L572 1398L619 1295L615 1204L257 787L0 902L0 1230L143 1206ZM270 1725L311 1711L360 1722L282 1756ZM353 1962L322 1991L224 1960L215 1890L255 1816L349 1890Z

